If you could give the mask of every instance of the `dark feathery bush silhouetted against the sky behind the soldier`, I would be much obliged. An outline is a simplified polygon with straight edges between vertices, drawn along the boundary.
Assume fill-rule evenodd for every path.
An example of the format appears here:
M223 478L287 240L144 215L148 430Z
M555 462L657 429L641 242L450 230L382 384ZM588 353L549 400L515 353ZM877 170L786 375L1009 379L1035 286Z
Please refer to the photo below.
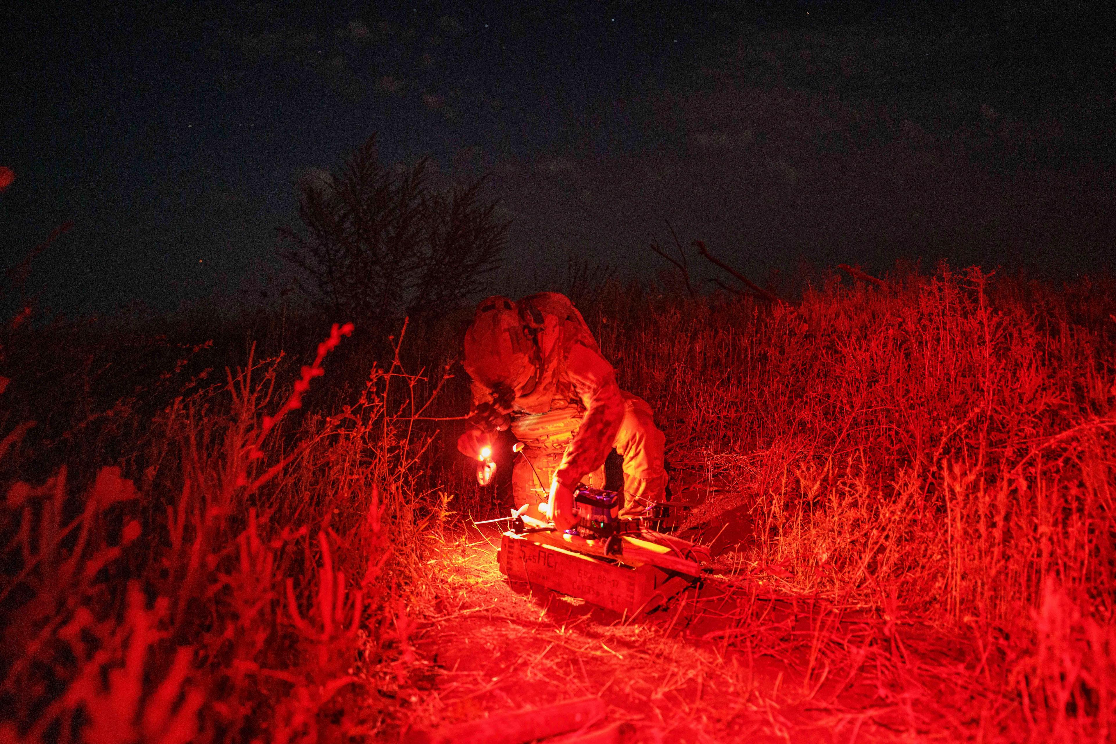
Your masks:
M400 173L376 154L373 135L328 177L304 180L298 214L306 233L280 228L305 271L302 289L330 316L365 327L460 305L500 265L508 225L481 200L484 178L431 187L429 161ZM371 322L369 322L371 321Z

